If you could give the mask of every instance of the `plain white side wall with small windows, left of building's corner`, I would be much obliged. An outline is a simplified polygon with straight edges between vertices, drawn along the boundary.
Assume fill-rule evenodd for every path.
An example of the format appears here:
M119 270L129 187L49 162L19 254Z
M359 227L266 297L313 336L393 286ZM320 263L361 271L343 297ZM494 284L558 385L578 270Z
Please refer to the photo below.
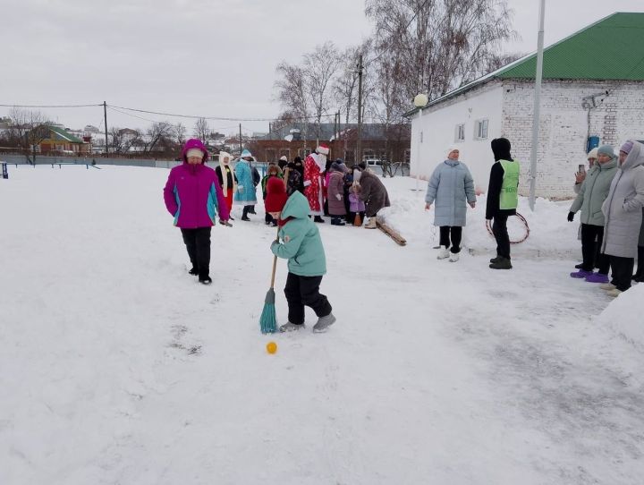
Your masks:
M411 121L411 176L428 178L447 157L454 145L461 151L478 189L487 190L489 169L494 161L490 140L501 136L503 86L501 81L488 82L461 96L428 107ZM487 137L474 136L475 123L487 119ZM464 124L465 140L456 140L456 127Z

